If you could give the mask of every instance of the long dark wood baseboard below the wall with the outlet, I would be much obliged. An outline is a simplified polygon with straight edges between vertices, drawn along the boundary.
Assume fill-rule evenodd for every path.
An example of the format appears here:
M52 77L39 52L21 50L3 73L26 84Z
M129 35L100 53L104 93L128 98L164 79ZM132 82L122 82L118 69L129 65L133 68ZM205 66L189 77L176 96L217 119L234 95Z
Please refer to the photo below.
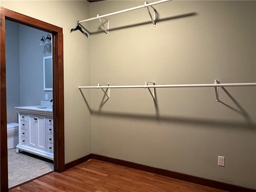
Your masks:
M178 173L178 172L172 172L172 171L164 170L164 169L160 169L160 168L153 168L150 166L145 166L145 165L128 162L128 161L124 161L124 160L119 160L119 159L114 159L114 158L110 158L110 157L106 157L106 156L91 154L91 157L92 157L92 159L101 160L101 161L105 161L105 162L109 162L109 163L113 163L113 164L118 164L118 165L130 167L130 168L134 168L137 170L142 170L142 171L146 171L146 172L150 172L150 173L154 173L154 174L159 174L162 176L176 178L179 180L196 183L196 184L200 184L200 185L204 185L204 186L208 186L208 187L212 187L212 188L226 190L229 192L256 192L256 190L254 190L254 189L244 188L241 186L236 186L236 185L232 185L232 184L227 184L227 183L223 183L223 182L218 182L218 181L214 181L214 180L209 180L209 179L205 179L205 178L182 174L182 173Z

